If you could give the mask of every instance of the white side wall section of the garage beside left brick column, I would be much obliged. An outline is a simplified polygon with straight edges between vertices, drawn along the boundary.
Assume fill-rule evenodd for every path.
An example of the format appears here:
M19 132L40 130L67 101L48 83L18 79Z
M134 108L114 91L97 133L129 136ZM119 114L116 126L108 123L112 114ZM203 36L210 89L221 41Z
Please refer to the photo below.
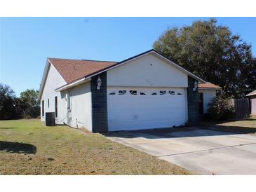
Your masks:
M67 111L66 95L70 97L70 111ZM72 89L62 92L62 100L65 102L65 123L73 128L86 128L92 132L92 105L90 82L83 83Z

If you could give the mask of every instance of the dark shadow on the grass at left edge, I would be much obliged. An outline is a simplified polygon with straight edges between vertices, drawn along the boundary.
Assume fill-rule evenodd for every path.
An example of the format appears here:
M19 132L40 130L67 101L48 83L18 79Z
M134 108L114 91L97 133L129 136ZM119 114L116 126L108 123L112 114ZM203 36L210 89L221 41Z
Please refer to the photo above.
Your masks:
M4 142L0 141L0 151L6 151L10 153L27 153L35 154L36 146L32 144L23 144L19 142Z

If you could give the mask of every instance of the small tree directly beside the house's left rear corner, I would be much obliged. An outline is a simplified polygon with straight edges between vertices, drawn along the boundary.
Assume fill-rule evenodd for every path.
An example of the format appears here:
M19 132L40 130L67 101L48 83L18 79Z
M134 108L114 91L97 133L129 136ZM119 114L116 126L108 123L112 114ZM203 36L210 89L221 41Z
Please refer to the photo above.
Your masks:
M24 104L23 117L36 118L40 115L39 91L27 89L20 93L20 100Z

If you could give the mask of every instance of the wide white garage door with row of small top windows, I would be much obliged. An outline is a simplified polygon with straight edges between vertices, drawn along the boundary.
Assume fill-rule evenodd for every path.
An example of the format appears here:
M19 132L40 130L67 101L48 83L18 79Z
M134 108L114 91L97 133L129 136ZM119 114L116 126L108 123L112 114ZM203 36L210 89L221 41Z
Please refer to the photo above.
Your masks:
M186 102L184 88L108 88L109 131L184 125Z

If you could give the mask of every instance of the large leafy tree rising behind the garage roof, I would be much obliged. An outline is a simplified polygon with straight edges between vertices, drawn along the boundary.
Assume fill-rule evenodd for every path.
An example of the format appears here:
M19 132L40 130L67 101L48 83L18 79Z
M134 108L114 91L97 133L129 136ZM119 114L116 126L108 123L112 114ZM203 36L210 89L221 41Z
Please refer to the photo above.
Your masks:
M241 97L256 88L251 46L213 18L167 29L153 47L194 74L222 86L227 96Z

